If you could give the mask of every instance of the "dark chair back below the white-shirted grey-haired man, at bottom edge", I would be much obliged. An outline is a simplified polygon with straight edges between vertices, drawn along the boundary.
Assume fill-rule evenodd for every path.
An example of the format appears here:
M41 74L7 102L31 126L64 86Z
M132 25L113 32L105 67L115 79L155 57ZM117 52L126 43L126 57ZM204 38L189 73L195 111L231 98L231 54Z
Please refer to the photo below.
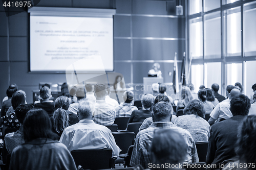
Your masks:
M107 169L114 167L114 158L112 149L101 150L74 150L71 155L75 161L76 167L79 165L83 169Z

